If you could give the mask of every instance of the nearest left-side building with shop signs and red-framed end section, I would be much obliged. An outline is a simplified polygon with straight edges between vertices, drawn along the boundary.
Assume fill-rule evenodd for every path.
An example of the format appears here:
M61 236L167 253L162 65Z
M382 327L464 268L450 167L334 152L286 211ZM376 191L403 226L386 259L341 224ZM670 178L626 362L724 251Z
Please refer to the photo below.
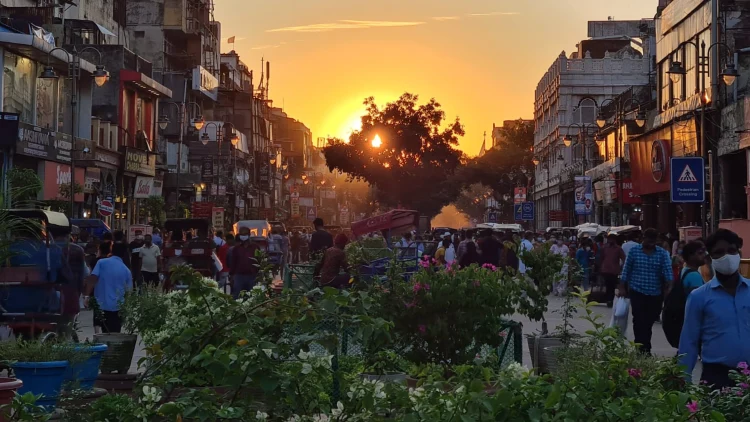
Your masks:
M52 200L64 196L73 163L82 192L70 215L116 228L136 222L137 179L156 184L155 102L171 95L150 79L151 64L126 48L125 3L0 2L3 109L21 118L14 165L38 169L40 199ZM61 77L48 79L46 65ZM92 78L99 66L109 71L101 86Z

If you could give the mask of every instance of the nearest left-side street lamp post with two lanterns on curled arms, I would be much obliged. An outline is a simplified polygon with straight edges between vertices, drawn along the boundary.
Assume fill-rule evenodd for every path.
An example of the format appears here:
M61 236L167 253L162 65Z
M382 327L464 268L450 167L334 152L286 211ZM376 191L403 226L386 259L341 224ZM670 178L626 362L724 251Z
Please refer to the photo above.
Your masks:
M73 148L71 150L71 157L70 157L70 217L75 217L74 210L75 210L75 160L73 158L73 150L75 150L76 145L76 135L77 135L77 125L76 125L76 109L78 106L78 83L81 79L81 56L80 54L84 51L94 51L97 54L99 54L99 64L96 65L96 70L94 70L93 76L94 76L94 83L96 86L103 86L107 81L109 80L109 72L107 72L104 69L104 65L102 65L102 52L97 50L94 47L84 47L81 49L81 51L76 50L76 48L73 48L73 52L68 52L66 49L62 47L55 47L52 50L47 53L47 65L44 67L44 71L41 75L39 75L40 79L58 79L57 72L55 72L55 68L50 65L50 57L52 56L52 53L55 50L60 50L68 58L68 75L70 76L70 79L72 81L72 89L71 89L71 95L70 95L70 115L71 115L71 132L73 135ZM85 148L88 149L88 148ZM85 153L85 151L84 151Z

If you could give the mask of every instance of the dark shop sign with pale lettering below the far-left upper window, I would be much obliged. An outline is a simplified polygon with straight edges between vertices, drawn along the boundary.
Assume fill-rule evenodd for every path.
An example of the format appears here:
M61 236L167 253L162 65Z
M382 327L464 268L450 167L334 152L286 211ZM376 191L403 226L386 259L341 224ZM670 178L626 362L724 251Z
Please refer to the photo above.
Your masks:
M16 152L47 161L70 163L73 140L70 135L52 132L27 123L18 124Z

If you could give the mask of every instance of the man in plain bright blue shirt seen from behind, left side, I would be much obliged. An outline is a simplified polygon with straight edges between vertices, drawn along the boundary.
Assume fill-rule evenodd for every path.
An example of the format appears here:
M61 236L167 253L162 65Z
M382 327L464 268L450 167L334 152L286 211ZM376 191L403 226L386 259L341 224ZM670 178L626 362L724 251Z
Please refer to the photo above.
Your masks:
M126 244L113 244L112 256L96 263L86 286L86 301L93 291L99 308L94 313L94 325L101 327L104 333L119 333L122 328L120 304L125 292L133 289L133 276L122 260L128 253Z

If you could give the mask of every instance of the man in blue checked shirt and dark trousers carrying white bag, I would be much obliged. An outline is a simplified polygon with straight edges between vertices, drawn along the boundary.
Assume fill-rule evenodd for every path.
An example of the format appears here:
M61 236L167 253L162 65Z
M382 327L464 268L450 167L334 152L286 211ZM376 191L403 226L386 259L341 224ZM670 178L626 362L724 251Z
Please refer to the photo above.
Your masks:
M648 229L643 243L635 245L625 259L618 295L630 298L633 312L633 337L638 349L651 353L651 333L661 314L664 291L672 283L672 259L669 252L656 246L658 233Z

